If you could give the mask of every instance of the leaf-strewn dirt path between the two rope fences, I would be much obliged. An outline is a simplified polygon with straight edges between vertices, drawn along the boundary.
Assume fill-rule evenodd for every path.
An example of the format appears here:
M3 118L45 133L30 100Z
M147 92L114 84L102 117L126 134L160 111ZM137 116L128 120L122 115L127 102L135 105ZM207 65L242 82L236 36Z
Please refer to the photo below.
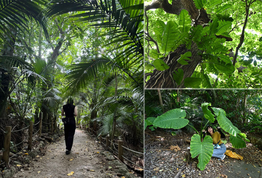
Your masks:
M119 161L108 161L105 153L108 151L90 133L76 129L69 155L65 154L64 137L61 136L47 146L44 155L36 155L31 165L20 167L22 169L14 177L119 177L115 172L116 161ZM68 176L72 171L73 175Z

